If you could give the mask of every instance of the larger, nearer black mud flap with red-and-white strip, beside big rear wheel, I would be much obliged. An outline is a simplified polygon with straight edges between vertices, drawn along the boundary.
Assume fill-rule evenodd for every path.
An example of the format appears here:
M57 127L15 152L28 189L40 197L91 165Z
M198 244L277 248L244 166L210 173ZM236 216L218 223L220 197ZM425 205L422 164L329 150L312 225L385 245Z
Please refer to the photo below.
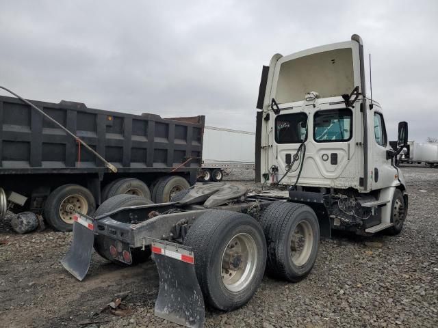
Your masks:
M151 239L159 274L155 316L184 325L204 327L205 309L190 247Z

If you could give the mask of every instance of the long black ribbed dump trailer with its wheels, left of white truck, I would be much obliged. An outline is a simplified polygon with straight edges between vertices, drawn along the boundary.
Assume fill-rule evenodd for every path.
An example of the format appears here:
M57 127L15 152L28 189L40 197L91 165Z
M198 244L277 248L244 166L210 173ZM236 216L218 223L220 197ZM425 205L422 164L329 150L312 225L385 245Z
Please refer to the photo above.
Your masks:
M70 231L114 195L168 202L196 182L204 121L0 96L0 219L27 210Z

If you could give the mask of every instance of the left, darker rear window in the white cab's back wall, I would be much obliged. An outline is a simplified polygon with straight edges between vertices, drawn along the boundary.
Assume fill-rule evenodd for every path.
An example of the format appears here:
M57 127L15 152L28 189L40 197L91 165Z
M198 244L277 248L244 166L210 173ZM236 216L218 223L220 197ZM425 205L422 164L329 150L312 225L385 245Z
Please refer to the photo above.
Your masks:
M276 143L302 143L305 140L307 140L307 114L283 114L275 118Z

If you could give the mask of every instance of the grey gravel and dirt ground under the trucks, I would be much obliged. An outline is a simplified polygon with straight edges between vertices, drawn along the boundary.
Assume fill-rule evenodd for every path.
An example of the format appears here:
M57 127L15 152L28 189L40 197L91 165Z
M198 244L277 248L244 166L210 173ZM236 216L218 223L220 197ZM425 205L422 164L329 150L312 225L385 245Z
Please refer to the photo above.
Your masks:
M265 277L240 310L207 310L205 327L438 327L438 169L404 167L404 174L409 216L400 235L321 241L302 282ZM94 254L88 276L77 282L60 264L70 233L18 235L8 219L0 222L1 327L179 327L153 316L153 262L120 268ZM126 291L129 316L94 315ZM100 322L81 325L91 321Z

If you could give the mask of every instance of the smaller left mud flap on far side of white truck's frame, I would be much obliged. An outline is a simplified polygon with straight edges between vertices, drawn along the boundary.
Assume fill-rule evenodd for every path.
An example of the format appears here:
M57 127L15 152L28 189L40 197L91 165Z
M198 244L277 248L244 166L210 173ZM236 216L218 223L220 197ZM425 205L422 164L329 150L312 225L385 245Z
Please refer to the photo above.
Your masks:
M73 242L66 256L61 260L62 266L82 280L90 267L91 254L94 243L94 223L92 219L83 216L75 216L73 223Z

